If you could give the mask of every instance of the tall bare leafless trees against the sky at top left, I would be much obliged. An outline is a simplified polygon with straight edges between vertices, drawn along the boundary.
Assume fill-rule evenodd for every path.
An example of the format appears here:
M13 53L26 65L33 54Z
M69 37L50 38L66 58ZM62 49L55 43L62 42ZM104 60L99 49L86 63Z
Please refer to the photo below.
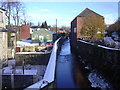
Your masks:
M11 25L13 19L14 25L19 26L20 20L22 20L22 11L24 11L24 5L19 0L0 0L1 8L6 10L8 26Z

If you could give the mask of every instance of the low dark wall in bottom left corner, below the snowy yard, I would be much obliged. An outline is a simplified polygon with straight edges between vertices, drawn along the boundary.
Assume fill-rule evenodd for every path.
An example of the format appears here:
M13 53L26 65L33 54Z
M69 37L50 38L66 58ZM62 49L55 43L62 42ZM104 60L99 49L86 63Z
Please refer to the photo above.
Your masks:
M33 84L34 76L35 75L14 75L14 88L23 89ZM2 75L2 88L12 88L11 75Z

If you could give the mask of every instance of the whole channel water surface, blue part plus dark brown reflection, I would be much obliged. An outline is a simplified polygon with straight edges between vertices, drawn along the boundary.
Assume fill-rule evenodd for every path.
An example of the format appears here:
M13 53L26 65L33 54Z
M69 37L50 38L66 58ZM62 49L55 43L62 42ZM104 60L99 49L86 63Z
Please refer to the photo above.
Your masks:
M62 45L56 68L56 88L88 88L79 64L70 51L69 40Z

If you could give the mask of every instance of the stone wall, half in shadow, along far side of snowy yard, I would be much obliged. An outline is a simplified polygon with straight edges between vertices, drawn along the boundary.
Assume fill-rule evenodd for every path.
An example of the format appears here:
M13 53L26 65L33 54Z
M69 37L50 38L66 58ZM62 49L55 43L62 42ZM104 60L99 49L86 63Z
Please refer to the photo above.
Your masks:
M25 64L31 64L31 65L47 65L49 62L51 53L45 53L45 54L16 54L15 60L16 65L22 65L23 60Z

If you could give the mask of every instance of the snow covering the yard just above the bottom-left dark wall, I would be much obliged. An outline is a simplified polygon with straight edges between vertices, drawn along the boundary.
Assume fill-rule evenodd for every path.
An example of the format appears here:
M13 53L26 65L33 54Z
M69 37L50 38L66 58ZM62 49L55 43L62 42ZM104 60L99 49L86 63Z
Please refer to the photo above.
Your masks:
M24 75L39 75L42 76L45 73L45 65L31 65L29 69L24 66ZM15 75L23 75L22 66L16 66L15 69L12 69L12 66L4 67L3 74L11 75L14 72Z

